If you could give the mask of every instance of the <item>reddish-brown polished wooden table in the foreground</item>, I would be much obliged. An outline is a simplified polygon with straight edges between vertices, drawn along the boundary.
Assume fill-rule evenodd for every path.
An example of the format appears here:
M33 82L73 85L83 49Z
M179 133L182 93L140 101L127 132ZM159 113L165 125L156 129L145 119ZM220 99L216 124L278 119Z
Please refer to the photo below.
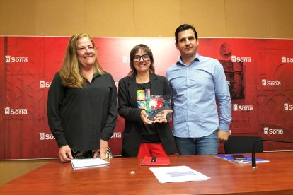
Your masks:
M108 167L83 170L56 160L4 184L0 194L293 194L293 152L256 157L270 162L258 163L253 170L251 164L214 155L172 156L171 166L187 165L211 179L166 184L140 165L142 159L113 158Z

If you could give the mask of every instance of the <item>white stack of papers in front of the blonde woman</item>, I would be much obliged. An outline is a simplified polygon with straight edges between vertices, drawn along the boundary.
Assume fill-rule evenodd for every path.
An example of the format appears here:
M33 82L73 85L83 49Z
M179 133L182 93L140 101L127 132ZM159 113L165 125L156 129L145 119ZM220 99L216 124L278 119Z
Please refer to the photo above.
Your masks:
M91 167L105 167L110 165L110 162L102 160L100 158L85 158L85 159L72 159L71 165L74 170L84 169Z

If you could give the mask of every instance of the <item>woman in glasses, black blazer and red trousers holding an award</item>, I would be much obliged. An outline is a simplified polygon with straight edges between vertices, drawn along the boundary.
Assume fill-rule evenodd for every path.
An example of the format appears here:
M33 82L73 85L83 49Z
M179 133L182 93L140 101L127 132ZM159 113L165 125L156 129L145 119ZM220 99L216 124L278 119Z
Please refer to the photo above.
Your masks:
M128 76L119 81L118 90L118 112L125 118L122 156L143 158L173 155L176 153L176 143L166 118L150 120L146 110L139 107L141 102L149 98L148 94L170 95L166 78L155 74L154 57L149 47L140 44L131 50L130 69Z

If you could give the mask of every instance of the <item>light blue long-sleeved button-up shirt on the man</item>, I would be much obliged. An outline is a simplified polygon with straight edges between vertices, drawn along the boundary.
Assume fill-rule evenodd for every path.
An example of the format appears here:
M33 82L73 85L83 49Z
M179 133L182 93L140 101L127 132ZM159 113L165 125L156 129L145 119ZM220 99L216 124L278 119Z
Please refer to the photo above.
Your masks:
M167 69L166 78L171 88L174 136L197 138L217 129L229 130L231 98L223 66L217 59L196 54L186 66L179 58Z

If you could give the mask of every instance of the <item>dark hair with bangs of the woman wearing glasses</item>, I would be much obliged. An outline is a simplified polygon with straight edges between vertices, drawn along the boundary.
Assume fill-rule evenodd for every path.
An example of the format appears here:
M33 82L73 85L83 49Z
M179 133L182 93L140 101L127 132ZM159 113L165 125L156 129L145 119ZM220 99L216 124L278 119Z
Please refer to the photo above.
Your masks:
M149 60L151 61L151 66L149 66L149 71L151 73L155 73L154 57L153 57L153 53L151 52L151 49L149 49L149 47L147 47L146 45L139 44L139 45L134 46L130 51L130 69L131 69L131 71L128 73L128 75L135 76L137 74L137 70L134 68L134 56L135 56L135 54L137 54L139 49L142 49L143 52L146 52L146 54L149 55Z

